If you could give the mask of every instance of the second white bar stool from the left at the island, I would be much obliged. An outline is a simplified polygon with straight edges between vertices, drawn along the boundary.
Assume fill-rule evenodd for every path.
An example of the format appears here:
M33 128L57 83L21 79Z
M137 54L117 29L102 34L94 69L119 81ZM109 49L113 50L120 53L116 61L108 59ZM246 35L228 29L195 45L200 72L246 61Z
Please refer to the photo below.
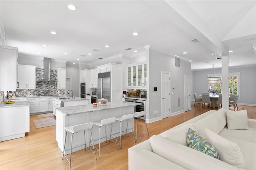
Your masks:
M100 158L100 139L101 139L101 138L100 138L100 127L102 127L102 126L105 125L105 130L106 130L106 132L105 132L105 134L106 134L105 138L106 138L106 142L107 142L107 125L112 125L111 130L110 130L110 137L109 137L109 142L110 142L111 136L112 136L112 128L114 129L114 133L115 133L115 137L116 137L116 130L115 130L115 127L114 127L114 124L113 124L115 121L116 121L116 118L115 118L115 117L110 117L110 118L107 118L107 119L102 119L102 120L100 120L100 121L92 122L94 125L99 126L99 149L97 149L97 148L95 147L95 149L99 151L99 158ZM104 137L103 137L103 138L104 138ZM114 140L112 140L112 141L115 142ZM119 149L119 146L118 146L118 143L117 143L117 139L116 139L116 142L115 142L115 143L117 144L117 148Z

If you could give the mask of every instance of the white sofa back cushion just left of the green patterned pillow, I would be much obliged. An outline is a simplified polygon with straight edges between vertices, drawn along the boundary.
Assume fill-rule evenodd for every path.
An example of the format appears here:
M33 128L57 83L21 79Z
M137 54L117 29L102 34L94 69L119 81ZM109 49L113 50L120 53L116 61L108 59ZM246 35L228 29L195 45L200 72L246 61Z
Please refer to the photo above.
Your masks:
M177 142L179 144L182 144L184 146L187 146L187 133L188 128L191 128L192 130L195 130L194 126L191 123L188 123L186 125L183 125L182 127L172 129L166 133L166 138L169 140L172 140L174 142Z

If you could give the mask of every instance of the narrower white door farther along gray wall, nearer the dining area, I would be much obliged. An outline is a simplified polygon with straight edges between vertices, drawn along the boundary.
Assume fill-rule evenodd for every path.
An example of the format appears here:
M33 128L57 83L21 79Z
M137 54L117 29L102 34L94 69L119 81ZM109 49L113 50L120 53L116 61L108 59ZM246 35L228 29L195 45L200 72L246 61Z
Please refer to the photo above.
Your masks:
M184 76L184 111L190 110L190 77Z

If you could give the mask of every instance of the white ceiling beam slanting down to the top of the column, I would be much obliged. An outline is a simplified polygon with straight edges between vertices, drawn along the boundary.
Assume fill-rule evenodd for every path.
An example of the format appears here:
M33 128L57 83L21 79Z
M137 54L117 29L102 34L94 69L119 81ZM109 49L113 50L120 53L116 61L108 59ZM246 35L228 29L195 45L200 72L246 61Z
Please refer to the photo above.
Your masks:
M170 22L176 24L176 26L217 55L228 55L228 48L211 32L211 29L186 1L166 0L165 2L170 6L170 10L168 10Z

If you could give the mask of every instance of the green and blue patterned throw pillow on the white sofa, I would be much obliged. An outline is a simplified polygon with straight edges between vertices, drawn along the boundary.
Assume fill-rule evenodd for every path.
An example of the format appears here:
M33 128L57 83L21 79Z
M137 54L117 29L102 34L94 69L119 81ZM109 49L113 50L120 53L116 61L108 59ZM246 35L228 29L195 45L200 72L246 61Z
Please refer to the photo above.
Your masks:
M214 146L191 128L188 128L187 146L219 159L219 154Z

